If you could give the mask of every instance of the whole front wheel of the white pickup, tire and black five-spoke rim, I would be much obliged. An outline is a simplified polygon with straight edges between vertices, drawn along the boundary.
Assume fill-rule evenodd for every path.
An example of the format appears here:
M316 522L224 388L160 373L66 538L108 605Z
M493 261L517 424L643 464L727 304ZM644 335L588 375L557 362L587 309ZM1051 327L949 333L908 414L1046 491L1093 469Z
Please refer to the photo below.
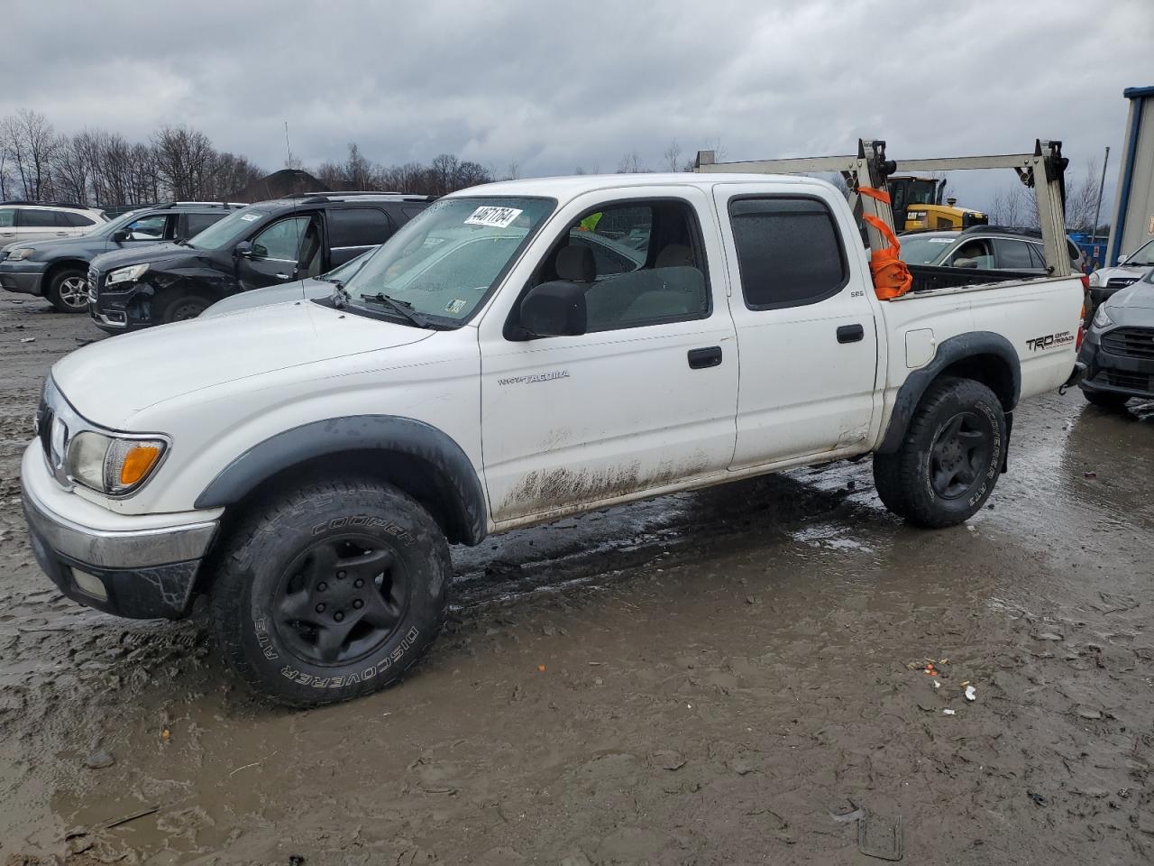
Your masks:
M316 484L273 499L233 535L212 588L217 635L257 693L293 707L395 682L444 620L443 533L400 491Z

